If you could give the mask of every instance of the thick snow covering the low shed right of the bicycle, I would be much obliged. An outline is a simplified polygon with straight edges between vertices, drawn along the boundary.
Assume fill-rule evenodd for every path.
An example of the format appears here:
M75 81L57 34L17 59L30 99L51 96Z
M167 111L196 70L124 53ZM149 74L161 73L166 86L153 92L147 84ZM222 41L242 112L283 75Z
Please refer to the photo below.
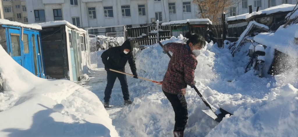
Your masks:
M274 49L290 55L291 58L298 58L298 45L294 42L294 36L297 30L298 24L292 24L286 28L280 26L277 31L272 33L260 33L254 36L255 42L267 46L265 49L266 64L264 66L264 72L268 72L270 69L270 65L274 59Z

